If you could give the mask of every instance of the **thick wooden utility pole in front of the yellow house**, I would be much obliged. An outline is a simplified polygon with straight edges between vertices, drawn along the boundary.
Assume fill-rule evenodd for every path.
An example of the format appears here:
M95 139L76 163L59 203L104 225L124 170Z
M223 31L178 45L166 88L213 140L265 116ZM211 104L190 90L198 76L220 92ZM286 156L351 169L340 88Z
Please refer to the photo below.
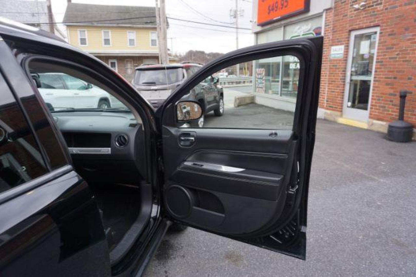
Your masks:
M156 27L159 44L159 62L161 64L168 64L168 42L166 29L166 5L165 0L160 0L160 7L158 0L156 0Z

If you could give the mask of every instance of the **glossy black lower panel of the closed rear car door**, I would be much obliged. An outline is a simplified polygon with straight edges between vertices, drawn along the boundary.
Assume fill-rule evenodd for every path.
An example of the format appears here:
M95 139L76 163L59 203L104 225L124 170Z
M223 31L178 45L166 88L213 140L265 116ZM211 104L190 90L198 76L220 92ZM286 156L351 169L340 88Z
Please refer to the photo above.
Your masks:
M67 173L53 181L45 176L42 179L47 185L1 204L2 276L24 276L29 272L32 276L52 276L56 272L109 274L106 255L97 255L93 260L88 257L94 252L108 252L104 228L87 184L70 170L68 166ZM42 182L34 182L39 181ZM95 266L80 267L86 260Z

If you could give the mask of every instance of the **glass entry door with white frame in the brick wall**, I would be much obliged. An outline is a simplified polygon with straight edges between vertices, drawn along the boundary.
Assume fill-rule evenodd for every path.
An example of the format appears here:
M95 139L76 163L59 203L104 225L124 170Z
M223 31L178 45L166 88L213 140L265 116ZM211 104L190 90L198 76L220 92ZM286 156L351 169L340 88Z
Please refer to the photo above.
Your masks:
M376 61L379 28L351 32L343 116L367 121Z

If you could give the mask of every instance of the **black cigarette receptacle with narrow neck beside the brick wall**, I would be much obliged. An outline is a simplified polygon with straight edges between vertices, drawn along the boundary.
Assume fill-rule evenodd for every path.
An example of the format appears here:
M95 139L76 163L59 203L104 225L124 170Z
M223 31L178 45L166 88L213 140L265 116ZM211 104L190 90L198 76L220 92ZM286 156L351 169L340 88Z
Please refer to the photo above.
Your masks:
M399 120L389 124L387 139L395 142L409 142L412 140L413 126L404 121L404 105L409 91L400 91Z

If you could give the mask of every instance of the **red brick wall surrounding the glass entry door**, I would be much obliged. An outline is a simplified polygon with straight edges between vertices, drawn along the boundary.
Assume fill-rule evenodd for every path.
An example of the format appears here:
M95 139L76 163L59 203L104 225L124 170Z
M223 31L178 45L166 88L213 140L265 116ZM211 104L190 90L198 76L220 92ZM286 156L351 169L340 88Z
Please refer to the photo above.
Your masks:
M366 2L366 8L354 10L352 6L360 2ZM396 120L399 91L406 89L413 93L406 99L405 120L416 126L415 0L334 1L325 18L319 106L342 113L349 35L369 27L380 27L369 118ZM331 46L336 45L345 46L343 59L329 59Z

